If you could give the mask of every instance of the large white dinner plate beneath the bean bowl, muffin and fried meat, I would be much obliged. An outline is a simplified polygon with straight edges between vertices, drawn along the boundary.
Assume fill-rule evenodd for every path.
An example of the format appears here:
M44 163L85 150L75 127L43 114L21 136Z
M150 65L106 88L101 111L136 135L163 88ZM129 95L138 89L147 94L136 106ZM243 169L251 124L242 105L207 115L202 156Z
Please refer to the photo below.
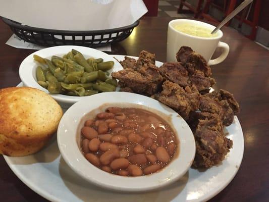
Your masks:
M123 60L124 56L114 56ZM156 62L157 66L162 65ZM21 86L20 83L18 86ZM7 157L12 171L33 191L50 201L206 201L223 190L236 175L244 153L244 137L238 118L226 127L233 148L218 166L201 171L190 168L178 181L158 191L119 193L99 188L77 175L61 157L56 136L37 154Z

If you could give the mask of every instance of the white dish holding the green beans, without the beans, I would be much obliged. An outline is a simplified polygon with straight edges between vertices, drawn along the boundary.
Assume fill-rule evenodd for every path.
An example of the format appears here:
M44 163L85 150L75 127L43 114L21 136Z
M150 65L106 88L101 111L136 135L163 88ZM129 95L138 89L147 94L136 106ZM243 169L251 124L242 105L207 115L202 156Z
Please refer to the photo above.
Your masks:
M55 46L55 47L48 47L41 49L39 51L36 51L32 53L31 55L27 56L21 63L20 69L19 69L19 75L23 82L23 84L27 87L33 87L40 90L45 91L49 95L51 95L56 101L63 107L63 108L69 108L74 103L78 102L83 97L79 96L69 96L69 95L63 95L63 94L51 94L48 92L47 89L43 88L37 83L36 79L36 68L38 66L38 63L34 61L33 55L38 55L42 58L47 58L50 60L51 56L60 56L67 54L71 51L71 49L74 48L80 53L83 54L84 57L89 58L102 58L103 61L114 61L114 67L109 72L112 71L119 71L122 70L121 64L115 60L110 55L107 55L101 51L98 51L93 48L84 47L84 46L77 46L77 45L61 45L61 46Z

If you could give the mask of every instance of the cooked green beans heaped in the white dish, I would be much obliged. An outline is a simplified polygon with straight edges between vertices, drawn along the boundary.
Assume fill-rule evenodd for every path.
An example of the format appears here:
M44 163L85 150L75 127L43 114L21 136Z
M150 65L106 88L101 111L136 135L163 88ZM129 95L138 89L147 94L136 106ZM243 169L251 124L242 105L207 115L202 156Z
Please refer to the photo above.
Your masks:
M113 68L113 61L86 59L75 49L63 57L52 56L50 60L37 55L33 58L39 63L36 68L37 83L53 94L88 96L115 91L118 86L117 80L107 72Z

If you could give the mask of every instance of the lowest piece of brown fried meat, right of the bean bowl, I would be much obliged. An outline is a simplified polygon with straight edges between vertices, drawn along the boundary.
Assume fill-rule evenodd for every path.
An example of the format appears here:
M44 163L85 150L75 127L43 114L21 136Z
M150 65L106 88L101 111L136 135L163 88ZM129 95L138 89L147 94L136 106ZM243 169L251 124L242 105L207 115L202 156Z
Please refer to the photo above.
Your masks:
M196 154L193 167L209 168L224 160L233 141L224 132L224 125L217 114L195 112L189 121L195 138Z

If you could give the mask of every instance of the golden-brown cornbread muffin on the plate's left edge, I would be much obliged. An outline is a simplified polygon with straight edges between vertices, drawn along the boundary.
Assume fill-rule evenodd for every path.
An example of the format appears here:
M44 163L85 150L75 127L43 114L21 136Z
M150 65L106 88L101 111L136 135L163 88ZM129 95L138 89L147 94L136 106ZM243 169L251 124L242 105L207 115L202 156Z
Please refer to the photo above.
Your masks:
M39 151L56 132L63 116L60 105L30 87L0 90L0 154L26 156Z

